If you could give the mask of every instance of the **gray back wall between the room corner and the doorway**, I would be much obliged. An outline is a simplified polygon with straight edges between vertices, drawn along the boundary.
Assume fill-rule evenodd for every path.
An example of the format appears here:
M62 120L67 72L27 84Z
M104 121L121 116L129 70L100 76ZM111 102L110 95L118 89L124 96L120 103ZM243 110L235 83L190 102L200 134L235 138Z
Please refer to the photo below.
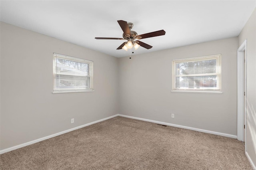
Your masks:
M119 114L236 135L237 48L228 38L119 58ZM222 54L222 94L171 92L173 59L213 54Z

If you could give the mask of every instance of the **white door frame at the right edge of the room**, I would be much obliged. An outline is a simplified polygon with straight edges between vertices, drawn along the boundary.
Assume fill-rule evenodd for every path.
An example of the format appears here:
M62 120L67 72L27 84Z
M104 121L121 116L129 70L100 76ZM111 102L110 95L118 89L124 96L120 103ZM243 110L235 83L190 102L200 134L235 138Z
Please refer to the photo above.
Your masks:
M247 55L247 40L245 40L237 50L237 139L245 142L245 151L246 151L246 121L244 121L244 114L245 114L245 120L246 120L246 114L247 114L246 55ZM244 99L245 99L245 102L244 102ZM244 141L244 125L245 125L245 141Z

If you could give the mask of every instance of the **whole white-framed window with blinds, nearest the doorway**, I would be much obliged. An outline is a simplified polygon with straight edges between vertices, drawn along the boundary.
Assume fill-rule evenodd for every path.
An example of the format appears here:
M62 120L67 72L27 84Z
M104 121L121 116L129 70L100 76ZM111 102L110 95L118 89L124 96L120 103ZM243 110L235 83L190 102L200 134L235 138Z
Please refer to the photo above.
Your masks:
M172 60L172 91L221 90L221 55Z

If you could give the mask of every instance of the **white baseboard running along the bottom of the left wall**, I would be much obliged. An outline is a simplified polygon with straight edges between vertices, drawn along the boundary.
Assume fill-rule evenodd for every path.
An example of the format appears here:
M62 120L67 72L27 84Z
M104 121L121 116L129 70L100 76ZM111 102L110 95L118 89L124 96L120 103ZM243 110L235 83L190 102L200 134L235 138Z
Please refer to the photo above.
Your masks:
M15 149L18 149L18 148L22 148L24 146L28 146L30 144L34 144L34 143L37 143L37 142L40 142L42 140L46 140L46 139L49 139L49 138L52 138L52 137L55 137L55 136L58 136L60 134L64 134L64 133L67 133L67 132L71 132L73 130L76 130L76 129L79 129L79 128L83 128L83 127L87 127L89 125L92 125L94 123L98 123L98 122L102 122L102 121L105 121L107 119L111 119L113 117L117 117L118 115L113 115L113 116L110 116L110 117L107 117L107 118L104 118L104 119L100 119L98 121L94 121L94 122L91 122L91 123L87 123L85 125L81 125L79 127L75 127L75 128L71 128L71 129L68 129L68 130L64 130L62 132L58 132L58 133L55 133L55 134L52 134L52 135L49 135L49 136L45 136L43 138L39 138L39 139L36 139L36 140L32 140L30 142L26 142L26 143L23 143L23 144L19 144L19 145L16 145L16 146L13 146L13 147L10 147L10 148L6 148L6 149L3 149L3 150L0 150L0 154L3 154L3 153L6 153L6 152L10 152L12 150L15 150Z

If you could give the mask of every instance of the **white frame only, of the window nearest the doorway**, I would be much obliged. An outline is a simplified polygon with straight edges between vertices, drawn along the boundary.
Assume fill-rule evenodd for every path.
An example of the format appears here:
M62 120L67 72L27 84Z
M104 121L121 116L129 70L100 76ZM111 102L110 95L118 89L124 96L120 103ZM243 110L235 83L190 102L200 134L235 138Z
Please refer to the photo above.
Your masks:
M217 82L216 85L218 86L217 89L178 89L176 88L176 77L183 77L184 75L177 75L176 73L176 64L177 63L185 63L185 62L196 62L196 61L204 61L204 60L211 60L216 59L216 73L208 73L208 75L216 75L216 80L220 81ZM193 75L193 74L190 74ZM198 75L202 76L202 75ZM207 76L207 75L205 75ZM174 59L172 60L172 92L192 92L192 93L222 93L221 91L221 54L216 55L206 55L201 57L192 57L192 58L185 58L185 59Z

